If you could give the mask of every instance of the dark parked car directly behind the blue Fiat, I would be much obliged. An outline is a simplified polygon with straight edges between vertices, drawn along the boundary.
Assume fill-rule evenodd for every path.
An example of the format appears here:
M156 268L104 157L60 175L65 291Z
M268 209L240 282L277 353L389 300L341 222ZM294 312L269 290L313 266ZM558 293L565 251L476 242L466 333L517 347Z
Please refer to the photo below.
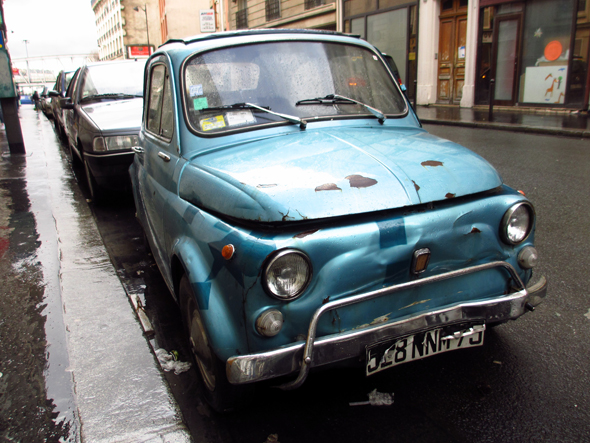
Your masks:
M145 60L93 63L76 71L61 99L72 161L84 166L90 193L129 187L131 147L137 145Z

